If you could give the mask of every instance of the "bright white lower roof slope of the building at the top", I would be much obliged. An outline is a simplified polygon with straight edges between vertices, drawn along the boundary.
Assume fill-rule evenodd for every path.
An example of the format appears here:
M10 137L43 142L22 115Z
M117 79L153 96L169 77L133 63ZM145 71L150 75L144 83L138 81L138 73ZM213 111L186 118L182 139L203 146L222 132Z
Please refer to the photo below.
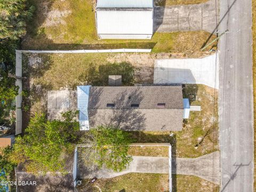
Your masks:
M153 11L97 11L98 34L153 34Z

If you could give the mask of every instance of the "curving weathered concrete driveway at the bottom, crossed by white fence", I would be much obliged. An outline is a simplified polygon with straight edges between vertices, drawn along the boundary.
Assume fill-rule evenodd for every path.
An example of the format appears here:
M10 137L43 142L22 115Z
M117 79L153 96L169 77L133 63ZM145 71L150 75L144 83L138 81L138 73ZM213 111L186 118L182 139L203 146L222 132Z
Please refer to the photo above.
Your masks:
M169 174L168 157L133 156L133 161L125 171L114 172L98 169L96 166L81 167L78 170L80 178L114 178L126 173L165 173ZM196 175L197 177L219 184L219 152L214 152L198 158L172 158L172 173Z

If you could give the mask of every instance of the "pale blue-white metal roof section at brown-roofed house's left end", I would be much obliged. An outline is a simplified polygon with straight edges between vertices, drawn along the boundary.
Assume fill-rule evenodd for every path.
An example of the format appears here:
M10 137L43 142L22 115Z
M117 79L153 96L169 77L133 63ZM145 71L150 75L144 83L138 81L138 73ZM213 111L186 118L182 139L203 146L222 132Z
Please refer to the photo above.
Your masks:
M91 85L77 86L77 109L79 110L79 125L81 130L89 130L88 101Z

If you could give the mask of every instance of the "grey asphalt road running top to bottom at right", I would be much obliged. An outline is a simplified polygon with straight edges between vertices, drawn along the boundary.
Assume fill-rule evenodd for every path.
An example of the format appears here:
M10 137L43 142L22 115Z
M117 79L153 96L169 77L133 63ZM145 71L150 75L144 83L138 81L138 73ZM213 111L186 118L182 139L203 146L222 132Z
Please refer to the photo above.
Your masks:
M251 0L220 0L221 191L253 191ZM239 30L239 31L237 31Z

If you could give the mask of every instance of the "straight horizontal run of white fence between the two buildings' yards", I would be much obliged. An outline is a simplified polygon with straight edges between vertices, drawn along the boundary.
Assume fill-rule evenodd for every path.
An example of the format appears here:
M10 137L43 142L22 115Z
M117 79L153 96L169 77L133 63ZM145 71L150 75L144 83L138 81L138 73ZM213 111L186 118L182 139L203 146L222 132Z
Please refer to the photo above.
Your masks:
M149 53L151 49L108 49L108 50L67 50L67 51L33 51L17 50L21 53Z

